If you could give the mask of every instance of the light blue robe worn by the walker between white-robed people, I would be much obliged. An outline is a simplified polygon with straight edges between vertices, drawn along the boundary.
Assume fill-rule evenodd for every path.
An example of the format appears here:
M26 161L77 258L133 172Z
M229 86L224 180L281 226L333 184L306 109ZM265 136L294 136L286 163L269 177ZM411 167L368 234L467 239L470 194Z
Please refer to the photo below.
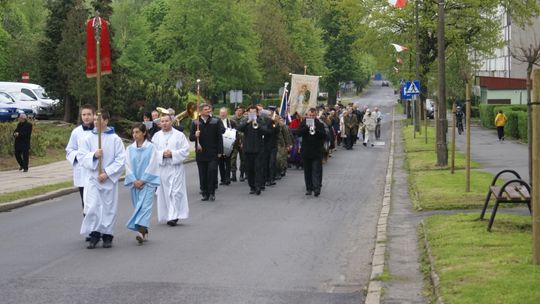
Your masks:
M127 148L126 179L124 185L131 188L131 204L133 215L127 223L127 228L139 231L140 227L149 227L152 216L152 204L154 194L159 186L159 165L156 147L149 141L145 141L142 147L137 143ZM144 182L142 189L133 186L133 182Z

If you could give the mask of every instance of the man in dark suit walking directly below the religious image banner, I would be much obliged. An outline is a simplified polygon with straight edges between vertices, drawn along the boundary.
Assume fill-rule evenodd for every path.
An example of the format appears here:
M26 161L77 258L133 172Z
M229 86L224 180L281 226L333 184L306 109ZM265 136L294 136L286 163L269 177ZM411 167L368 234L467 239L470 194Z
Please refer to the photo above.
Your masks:
M301 154L304 161L304 180L306 195L321 194L322 158L326 131L324 124L317 118L317 109L308 110L306 119L298 127L298 136L302 137Z

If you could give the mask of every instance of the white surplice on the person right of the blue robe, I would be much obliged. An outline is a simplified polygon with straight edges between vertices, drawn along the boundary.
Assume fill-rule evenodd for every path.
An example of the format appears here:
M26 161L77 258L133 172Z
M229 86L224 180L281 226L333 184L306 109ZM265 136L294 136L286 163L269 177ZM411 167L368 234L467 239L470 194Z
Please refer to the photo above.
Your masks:
M152 137L159 161L161 184L157 189L158 221L164 223L189 216L184 160L189 155L189 143L184 133L172 129L159 131ZM164 158L163 152L171 150L172 157Z

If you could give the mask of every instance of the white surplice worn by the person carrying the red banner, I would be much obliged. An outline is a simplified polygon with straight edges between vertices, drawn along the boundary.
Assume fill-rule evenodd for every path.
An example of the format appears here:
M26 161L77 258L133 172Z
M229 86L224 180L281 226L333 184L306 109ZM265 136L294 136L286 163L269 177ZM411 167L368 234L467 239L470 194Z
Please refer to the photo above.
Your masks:
M96 129L92 134L79 141L77 158L85 170L84 213L86 216L81 225L81 235L87 236L92 231L102 234L113 234L118 207L118 179L124 169L126 150L114 129L108 128L101 134L103 150L102 167L108 178L100 183L98 159L94 153L98 148Z

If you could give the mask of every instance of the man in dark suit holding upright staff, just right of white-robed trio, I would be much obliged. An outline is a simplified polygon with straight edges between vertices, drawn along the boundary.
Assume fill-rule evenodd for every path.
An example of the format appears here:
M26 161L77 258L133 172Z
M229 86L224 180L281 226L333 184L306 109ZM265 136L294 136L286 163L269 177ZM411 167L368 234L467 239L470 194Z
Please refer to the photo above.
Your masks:
M211 117L208 104L199 107L200 117L191 123L189 140L195 142L199 182L203 201L214 201L217 186L218 159L223 155L223 124ZM198 125L198 128L197 128Z

